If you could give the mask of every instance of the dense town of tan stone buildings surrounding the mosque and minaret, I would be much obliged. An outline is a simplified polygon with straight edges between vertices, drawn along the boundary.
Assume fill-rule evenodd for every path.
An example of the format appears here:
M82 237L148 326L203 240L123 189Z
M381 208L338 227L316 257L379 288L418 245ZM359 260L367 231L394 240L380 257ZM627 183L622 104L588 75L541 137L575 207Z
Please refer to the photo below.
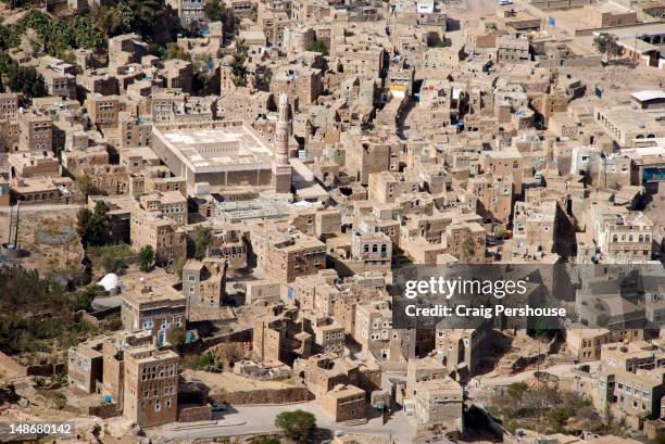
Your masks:
M170 272L106 288L122 330L68 352L72 384L140 427L212 418L205 403L178 405L174 338L221 322L251 332L261 378L298 380L335 421L397 403L461 433L489 333L393 327L398 267L660 258L663 220L645 204L665 181L663 83L591 97L576 69L600 59L530 9L500 7L451 39L439 0L230 0L234 29L209 23L205 1L167 3L206 28L178 37L183 60L152 55L138 34L110 38L104 65L22 45L9 55L37 68L48 97L0 93L0 203L104 202L112 241L151 245ZM597 30L641 23L630 5L531 5L580 8ZM660 26L628 54L639 69L665 65ZM607 328L566 326L566 352L600 360L600 409L665 429L665 355L643 334L665 321L662 275L619 312L601 280L579 287L593 304L578 320L610 309ZM641 327L611 328L628 315ZM405 378L387 386L385 367Z

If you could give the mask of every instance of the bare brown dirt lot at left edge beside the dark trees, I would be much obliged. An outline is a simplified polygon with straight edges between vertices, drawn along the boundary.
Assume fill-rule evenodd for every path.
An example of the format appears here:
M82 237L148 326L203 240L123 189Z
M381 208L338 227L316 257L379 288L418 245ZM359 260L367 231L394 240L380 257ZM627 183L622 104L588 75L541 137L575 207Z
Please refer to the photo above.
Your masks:
M47 232L58 233L63 227L76 229L78 207L61 206L53 208L24 207L20 212L18 243L29 252L29 256L20 259L26 268L36 268L41 272L63 270L67 266L77 266L83 259L83 248L78 239L67 244L49 245L38 241L36 232L41 225ZM0 211L0 240L8 241L10 225L9 211Z

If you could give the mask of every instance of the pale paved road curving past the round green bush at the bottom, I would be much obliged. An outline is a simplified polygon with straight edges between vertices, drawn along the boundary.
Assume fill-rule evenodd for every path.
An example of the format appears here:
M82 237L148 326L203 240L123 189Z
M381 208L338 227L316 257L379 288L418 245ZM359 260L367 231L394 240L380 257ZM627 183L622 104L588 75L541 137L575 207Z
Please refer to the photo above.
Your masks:
M231 406L230 411L223 415L217 426L201 426L181 428L183 424L168 424L148 431L154 442L175 440L193 440L200 437L229 436L247 433L276 431L275 417L281 411L303 409L316 415L319 428L340 430L347 433L391 436L397 444L407 444L415 436L415 422L402 411L398 411L384 426L381 418L374 418L366 424L344 426L334 422L315 402L274 405L274 406ZM176 429L177 428L177 429Z

